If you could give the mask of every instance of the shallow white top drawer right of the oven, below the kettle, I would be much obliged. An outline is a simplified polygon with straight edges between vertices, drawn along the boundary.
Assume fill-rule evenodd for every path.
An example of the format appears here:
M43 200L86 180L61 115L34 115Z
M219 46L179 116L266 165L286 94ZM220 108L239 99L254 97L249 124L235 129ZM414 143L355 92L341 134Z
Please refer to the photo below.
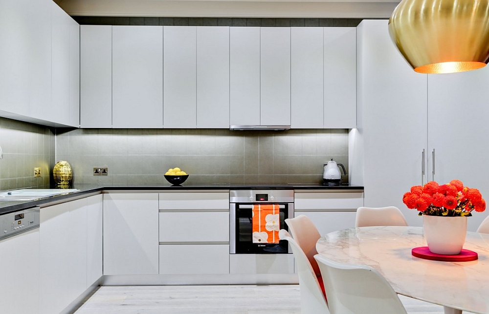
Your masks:
M351 193L295 193L294 210L357 209L363 206L363 192Z

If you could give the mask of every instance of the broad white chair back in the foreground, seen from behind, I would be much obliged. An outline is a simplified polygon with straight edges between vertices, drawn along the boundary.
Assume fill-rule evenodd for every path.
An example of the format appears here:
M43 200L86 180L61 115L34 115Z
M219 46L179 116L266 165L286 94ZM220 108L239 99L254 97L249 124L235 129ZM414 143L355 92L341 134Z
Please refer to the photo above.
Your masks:
M376 270L315 255L331 314L406 314L399 296Z

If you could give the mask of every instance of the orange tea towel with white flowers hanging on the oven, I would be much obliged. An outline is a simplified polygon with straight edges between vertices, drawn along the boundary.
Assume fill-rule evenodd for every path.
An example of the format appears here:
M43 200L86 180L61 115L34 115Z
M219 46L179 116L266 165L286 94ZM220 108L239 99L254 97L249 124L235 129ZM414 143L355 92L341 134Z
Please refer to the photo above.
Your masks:
M278 243L280 209L276 204L253 205L253 243Z

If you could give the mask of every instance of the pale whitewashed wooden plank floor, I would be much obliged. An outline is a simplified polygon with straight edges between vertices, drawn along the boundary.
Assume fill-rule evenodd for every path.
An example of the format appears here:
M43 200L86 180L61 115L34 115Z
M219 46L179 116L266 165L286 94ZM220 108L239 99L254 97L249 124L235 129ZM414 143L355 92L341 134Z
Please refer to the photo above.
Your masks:
M400 296L409 314L443 314L443 307ZM293 314L298 285L100 287L76 314Z

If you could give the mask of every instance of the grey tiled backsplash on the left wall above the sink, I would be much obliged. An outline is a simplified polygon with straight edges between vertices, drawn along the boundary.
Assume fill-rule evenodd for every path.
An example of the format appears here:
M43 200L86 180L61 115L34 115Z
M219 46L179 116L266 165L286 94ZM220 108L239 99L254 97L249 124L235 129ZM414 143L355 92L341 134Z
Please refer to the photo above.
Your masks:
M0 118L0 147L0 190L49 184L55 136L48 127ZM41 177L34 177L34 167L41 168Z

